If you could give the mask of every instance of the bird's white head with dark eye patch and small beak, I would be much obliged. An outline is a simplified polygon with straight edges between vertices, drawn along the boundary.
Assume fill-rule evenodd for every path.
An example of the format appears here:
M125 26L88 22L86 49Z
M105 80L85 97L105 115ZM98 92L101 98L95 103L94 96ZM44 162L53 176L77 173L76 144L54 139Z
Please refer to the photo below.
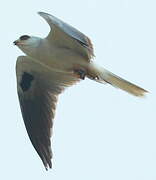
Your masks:
M20 48L24 53L30 55L34 53L40 42L41 38L23 35L13 43L14 45L18 46L18 48Z

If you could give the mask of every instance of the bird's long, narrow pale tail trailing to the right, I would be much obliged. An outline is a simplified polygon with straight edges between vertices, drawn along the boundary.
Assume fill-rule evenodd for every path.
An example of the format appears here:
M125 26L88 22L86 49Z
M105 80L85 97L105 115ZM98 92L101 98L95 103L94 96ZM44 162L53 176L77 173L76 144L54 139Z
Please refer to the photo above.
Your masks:
M134 96L144 96L145 89L122 79L121 77L111 73L110 71L100 67L95 63L91 63L88 69L88 77L101 83L109 83L114 87L120 88Z

